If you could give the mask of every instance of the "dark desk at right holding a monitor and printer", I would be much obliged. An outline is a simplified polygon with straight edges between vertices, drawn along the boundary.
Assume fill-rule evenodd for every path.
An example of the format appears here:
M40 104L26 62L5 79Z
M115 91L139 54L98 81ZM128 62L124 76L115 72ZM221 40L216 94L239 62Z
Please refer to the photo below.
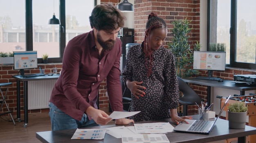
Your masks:
M224 89L233 89L240 91L240 95L245 95L245 91L256 90L255 85L243 85L235 84L230 82L232 80L223 80L223 82L213 81L213 80L201 80L197 78L182 78L187 83L193 83L197 85L206 85L207 86L207 102L211 103L211 87L219 87Z

